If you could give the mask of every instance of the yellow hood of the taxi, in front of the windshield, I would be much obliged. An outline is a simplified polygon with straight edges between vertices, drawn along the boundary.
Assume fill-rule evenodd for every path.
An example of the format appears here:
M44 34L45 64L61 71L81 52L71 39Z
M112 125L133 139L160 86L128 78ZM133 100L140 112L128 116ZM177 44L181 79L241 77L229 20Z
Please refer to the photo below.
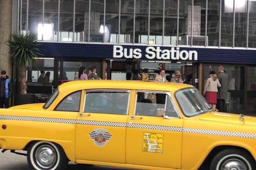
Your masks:
M244 117L241 119L240 117ZM223 113L223 112L210 112L198 116L198 119L204 121L218 121L225 123L248 124L256 126L256 117L242 116L241 114Z

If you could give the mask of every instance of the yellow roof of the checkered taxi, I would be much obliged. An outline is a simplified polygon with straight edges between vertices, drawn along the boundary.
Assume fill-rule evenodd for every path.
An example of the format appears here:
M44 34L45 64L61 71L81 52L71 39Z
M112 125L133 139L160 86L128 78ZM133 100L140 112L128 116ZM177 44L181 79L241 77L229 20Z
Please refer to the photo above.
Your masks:
M147 82L140 80L74 80L58 86L60 92L83 90L83 89L135 89L176 91L182 88L193 87L183 83L172 82Z

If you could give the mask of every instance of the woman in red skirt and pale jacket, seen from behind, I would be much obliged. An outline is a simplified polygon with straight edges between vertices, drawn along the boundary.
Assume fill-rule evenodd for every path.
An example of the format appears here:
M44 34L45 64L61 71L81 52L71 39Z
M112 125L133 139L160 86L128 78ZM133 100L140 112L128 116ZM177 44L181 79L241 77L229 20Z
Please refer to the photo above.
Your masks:
M214 110L216 109L218 87L220 86L221 85L215 71L210 71L210 78L206 80L206 84L204 86L204 95L206 96L206 101Z

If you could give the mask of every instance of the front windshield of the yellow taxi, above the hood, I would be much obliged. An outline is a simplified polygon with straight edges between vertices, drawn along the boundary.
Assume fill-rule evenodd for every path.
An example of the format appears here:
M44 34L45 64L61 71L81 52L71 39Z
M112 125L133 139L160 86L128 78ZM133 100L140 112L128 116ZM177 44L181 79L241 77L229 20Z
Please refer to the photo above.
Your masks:
M188 117L214 111L196 88L179 90L175 97L182 112Z

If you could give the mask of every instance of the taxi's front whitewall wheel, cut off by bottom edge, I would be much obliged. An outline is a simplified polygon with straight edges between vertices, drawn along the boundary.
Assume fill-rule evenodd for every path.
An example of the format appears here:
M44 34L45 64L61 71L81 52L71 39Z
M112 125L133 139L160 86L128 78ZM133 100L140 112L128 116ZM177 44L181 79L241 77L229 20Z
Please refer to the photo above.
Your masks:
M255 160L244 150L226 149L214 156L210 170L255 170Z

